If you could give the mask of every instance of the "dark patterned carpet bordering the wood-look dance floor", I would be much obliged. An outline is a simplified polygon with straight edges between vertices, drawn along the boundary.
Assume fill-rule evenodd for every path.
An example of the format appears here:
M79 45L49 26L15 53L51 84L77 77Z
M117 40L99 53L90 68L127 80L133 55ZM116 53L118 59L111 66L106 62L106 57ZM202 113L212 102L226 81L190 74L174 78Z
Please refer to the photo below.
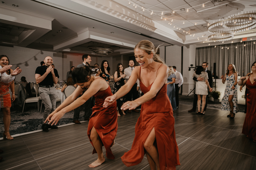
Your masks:
M194 95L192 96L179 96L180 104L190 105L191 108L193 106ZM220 109L221 103L215 104L212 101L209 101L207 104L207 108ZM244 112L244 105L238 105L239 112ZM92 110L91 110L92 111ZM42 121L43 121L43 112L44 106L42 108L42 113L37 111L37 107L35 108L34 103L27 103L26 109L24 109L24 113L22 113L22 107L17 105L11 107L11 125L10 125L10 134L20 134L26 133L30 131L40 130L42 129ZM74 111L66 113L58 122L59 125L73 123L73 115ZM84 111L80 111L79 121L84 121ZM4 131L4 122L3 122L3 113L0 112L0 137L3 137Z

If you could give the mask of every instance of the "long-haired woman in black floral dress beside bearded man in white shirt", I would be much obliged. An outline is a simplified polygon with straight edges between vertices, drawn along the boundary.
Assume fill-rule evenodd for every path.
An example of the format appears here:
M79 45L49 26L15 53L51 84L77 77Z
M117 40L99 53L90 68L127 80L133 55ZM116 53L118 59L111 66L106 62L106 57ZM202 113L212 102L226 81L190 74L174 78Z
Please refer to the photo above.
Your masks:
M114 74L114 80L115 80L115 85L114 85L114 94L126 83L125 81L126 74L124 74L124 67L121 63L117 64L116 72ZM119 110L122 111L123 115L125 115L124 110L121 110L121 106L125 102L125 96L119 98L116 100L117 104L117 116L121 116L119 114Z

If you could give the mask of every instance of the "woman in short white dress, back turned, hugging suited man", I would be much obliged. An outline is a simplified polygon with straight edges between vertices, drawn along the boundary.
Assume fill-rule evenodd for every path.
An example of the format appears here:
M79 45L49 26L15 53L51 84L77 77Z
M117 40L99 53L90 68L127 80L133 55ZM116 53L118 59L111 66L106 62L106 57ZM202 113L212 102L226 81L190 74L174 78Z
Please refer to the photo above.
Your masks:
M206 95L208 94L207 86L209 87L209 91L212 92L212 88L209 85L208 82L208 74L204 71L204 68L202 66L198 66L196 68L196 71L193 74L193 77L201 77L204 78L201 81L196 82L196 94L197 94L197 107L198 112L196 114L205 115L204 106L205 106L205 99ZM201 95L202 95L202 111L200 112L200 105L201 105Z

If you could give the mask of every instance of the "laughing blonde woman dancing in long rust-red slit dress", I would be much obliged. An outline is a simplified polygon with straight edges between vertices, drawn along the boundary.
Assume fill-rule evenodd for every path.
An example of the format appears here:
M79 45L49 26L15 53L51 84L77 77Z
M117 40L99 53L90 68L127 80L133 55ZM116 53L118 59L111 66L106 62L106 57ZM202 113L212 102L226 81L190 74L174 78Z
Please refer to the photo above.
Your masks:
M106 98L103 107L108 107L128 93L139 78L144 95L125 102L121 107L132 110L142 104L132 149L124 153L122 161L126 166L137 165L146 153L152 170L174 170L180 161L172 106L166 93L168 67L156 51L157 48L148 40L142 40L135 46L134 55L140 67L132 70L129 81L118 92Z

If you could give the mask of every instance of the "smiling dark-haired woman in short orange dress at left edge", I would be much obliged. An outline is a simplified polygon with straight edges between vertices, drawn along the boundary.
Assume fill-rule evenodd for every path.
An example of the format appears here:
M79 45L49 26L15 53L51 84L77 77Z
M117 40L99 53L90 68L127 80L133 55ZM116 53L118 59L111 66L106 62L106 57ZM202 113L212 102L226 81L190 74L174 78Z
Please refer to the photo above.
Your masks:
M0 56L0 65L2 67L9 65L9 59L6 55ZM6 74L10 75L13 72L12 69L6 71ZM12 100L9 93L9 87L12 91ZM14 94L14 81L10 83L0 82L0 100L1 100L1 109L4 113L4 139L12 140L13 137L9 133L9 127L11 124L11 111L10 108L12 106L12 102L15 100Z

